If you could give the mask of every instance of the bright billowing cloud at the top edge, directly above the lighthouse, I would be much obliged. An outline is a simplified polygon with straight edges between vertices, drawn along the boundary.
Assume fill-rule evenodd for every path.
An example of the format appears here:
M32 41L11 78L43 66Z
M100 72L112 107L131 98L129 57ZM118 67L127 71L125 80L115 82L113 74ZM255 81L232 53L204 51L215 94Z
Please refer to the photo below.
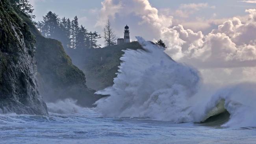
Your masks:
M133 14L141 18L138 24L149 24L157 28L171 26L173 19L172 16L159 15L158 9L152 7L148 0L105 0L96 26L103 26L108 18L115 19L117 14L122 17Z

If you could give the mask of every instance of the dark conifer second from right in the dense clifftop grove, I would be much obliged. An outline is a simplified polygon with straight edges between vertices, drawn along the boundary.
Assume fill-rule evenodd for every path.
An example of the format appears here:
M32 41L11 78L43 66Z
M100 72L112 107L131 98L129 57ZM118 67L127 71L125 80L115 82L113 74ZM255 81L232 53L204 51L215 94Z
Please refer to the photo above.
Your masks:
M86 39L87 39L87 30L81 25L77 35L77 46L76 48L79 50L85 49L86 47Z

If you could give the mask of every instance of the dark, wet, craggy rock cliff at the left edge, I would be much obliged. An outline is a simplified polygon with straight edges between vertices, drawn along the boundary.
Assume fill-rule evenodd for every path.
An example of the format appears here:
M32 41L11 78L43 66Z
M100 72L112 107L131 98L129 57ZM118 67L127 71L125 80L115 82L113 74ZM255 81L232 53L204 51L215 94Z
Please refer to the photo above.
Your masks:
M37 90L35 37L8 0L0 1L0 113L47 114Z

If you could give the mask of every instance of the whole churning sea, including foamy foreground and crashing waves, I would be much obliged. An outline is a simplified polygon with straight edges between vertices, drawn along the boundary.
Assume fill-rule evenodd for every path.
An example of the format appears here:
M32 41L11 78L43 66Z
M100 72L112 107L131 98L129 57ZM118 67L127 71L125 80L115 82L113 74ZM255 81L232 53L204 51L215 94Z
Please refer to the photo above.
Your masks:
M95 108L66 99L47 103L47 116L1 114L0 143L255 143L255 83L205 84L196 68L137 40L143 49L124 50Z

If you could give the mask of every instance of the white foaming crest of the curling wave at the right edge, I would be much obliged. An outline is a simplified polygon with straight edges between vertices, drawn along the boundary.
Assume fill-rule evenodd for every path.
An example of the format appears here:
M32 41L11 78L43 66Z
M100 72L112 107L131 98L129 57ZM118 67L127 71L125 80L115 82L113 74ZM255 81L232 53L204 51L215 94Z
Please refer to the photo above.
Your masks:
M240 83L218 90L208 102L216 103L224 100L224 107L230 113L230 120L223 124L229 127L256 126L256 83Z

